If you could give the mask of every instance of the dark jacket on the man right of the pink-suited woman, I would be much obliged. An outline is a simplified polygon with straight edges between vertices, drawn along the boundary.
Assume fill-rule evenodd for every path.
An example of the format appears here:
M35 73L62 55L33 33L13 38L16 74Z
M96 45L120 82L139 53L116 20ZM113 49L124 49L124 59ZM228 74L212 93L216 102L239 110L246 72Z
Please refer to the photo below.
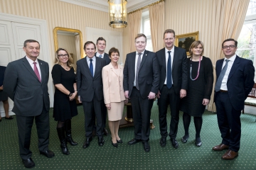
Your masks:
M136 52L131 52L127 54L124 64L124 91L129 91L129 96L131 96L134 86L135 59ZM156 59L156 53L144 51L139 67L138 81L142 98L147 98L150 91L157 94L159 89L159 64Z

